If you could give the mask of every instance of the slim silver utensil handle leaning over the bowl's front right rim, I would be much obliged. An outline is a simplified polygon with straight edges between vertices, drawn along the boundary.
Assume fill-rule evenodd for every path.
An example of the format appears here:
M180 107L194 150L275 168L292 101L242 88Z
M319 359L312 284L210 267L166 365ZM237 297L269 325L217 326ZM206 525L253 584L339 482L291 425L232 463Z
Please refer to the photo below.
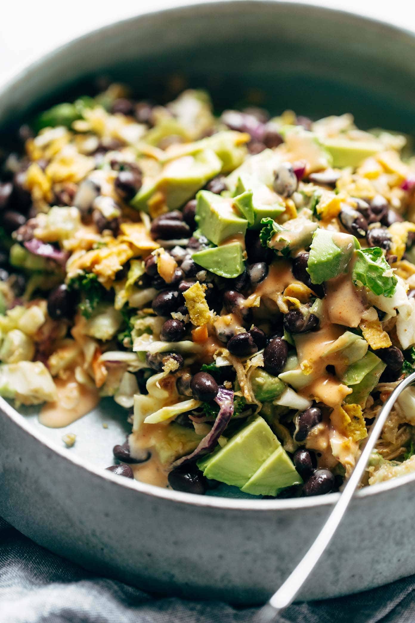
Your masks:
M361 451L361 455L355 465L355 468L348 478L345 488L338 498L336 505L329 515L329 518L323 525L319 535L317 535L307 553L305 553L304 557L297 564L294 571L292 571L286 581L273 594L268 603L266 603L265 606L258 611L254 617L254 621L256 623L270 623L271 621L278 621L279 612L284 610L284 608L289 606L292 601L294 601L302 585L309 577L315 565L319 562L320 557L324 553L325 549L332 540L335 531L340 525L340 521L342 521L350 500L352 500L353 494L360 483L361 477L365 472L366 465L370 458L370 454L375 448L376 441L382 432L383 425L385 424L386 418L389 416L396 399L399 394L401 394L401 392L407 388L408 385L414 383L414 381L415 372L409 374L406 379L399 383L383 405L371 426L370 434L366 438L366 443L363 446L363 450Z

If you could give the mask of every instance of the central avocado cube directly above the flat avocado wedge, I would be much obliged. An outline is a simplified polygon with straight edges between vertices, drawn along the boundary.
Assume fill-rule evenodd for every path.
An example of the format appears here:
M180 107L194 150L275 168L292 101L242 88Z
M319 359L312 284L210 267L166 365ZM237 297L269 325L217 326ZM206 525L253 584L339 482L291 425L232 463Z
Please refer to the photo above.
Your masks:
M248 221L233 209L232 199L209 191L197 193L196 221L202 234L214 244L232 236L245 236L248 226Z

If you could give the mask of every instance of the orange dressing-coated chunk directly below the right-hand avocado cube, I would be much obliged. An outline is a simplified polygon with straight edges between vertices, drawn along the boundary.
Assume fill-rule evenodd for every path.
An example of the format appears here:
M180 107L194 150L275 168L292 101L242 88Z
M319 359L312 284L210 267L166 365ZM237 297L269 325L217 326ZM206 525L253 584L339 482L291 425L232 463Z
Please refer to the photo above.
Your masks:
M360 288L353 285L350 274L339 275L327 282L324 312L330 322L359 326L366 305Z

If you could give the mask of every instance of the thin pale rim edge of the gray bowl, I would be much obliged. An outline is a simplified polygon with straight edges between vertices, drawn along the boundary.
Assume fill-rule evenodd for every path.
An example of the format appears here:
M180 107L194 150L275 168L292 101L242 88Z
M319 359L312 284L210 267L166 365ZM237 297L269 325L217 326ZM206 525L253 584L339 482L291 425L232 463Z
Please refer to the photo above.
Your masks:
M203 11L203 9L214 10L223 10L225 7L226 10L230 9L239 9L241 6L250 6L255 7L255 10L258 11L258 5L261 4L264 7L273 7L273 6L282 6L284 8L287 7L295 7L296 11L310 11L310 12L320 12L320 14L325 16L333 16L338 19L342 19L342 17L347 17L348 19L355 20L357 22L365 22L368 27L382 27L386 29L394 37L402 37L403 35L415 40L415 31L411 31L401 26L397 26L396 24L389 24L381 19L376 19L375 17L366 16L363 13L356 13L352 11L347 11L345 9L331 8L331 7L322 7L317 4L309 4L308 2L291 2L291 1L276 1L276 0L202 0L197 4L194 3L194 0L180 0L180 3L177 6L173 7L165 7L159 9L147 9L144 11L138 11L132 14L131 16L124 17L115 22L111 22L109 24L104 24L96 29L88 30L83 32L77 37L68 38L65 42L57 47L51 47L46 52L41 52L35 57L29 64L27 62L22 62L18 64L17 67L11 70L11 72L6 72L4 78L0 80L0 98L6 93L9 89L13 88L16 83L21 82L26 78L27 75L36 72L42 65L47 63L49 60L52 60L57 54L65 54L71 47L76 46L78 43L83 42L90 37L101 36L101 34L105 34L105 32L110 32L113 29L117 29L119 27L126 26L128 22L137 21L141 19L150 18L152 16L169 16L169 14L178 15L180 13L184 13L186 11ZM277 9L276 9L277 10ZM25 417L22 416L14 407L9 404L4 398L0 397L0 412L5 414L9 419L11 419L16 426L23 429L30 437L33 437L37 442L44 445L47 449L54 452L54 454L59 455L62 459L67 460L68 462L76 465L77 467L83 468L91 473L91 475L103 478L108 481L109 485L118 485L124 488L128 488L131 491L135 491L139 494L146 495L148 497L156 497L164 500L168 500L172 503L180 503L185 505L192 506L203 506L205 508L210 509L218 509L218 510L243 510L243 511L277 511L277 510L297 510L300 508L314 508L316 506L330 506L337 502L340 493L328 493L326 495L318 495L315 497L302 497L302 498L287 498L287 499L274 499L274 500L249 500L249 499L238 499L238 498L225 498L225 497L215 497L215 496L205 496L198 495L195 493L184 493L175 490L170 490L167 488L157 487L156 485L149 485L147 483L140 482L139 480L131 480L129 478L119 478L114 475L112 472L106 471L103 468L96 467L91 460L81 459L75 454L68 453L65 447L59 447L56 442L47 438L46 435L42 433L41 430L36 430L30 424L30 422L26 421ZM373 495L378 495L381 493L386 493L389 490L395 490L401 487L404 487L406 484L415 481L415 472L409 473L407 475L391 478L386 482L381 482L376 485L371 485L370 487L364 487L355 494L355 497L358 500L365 500L366 498L370 498Z

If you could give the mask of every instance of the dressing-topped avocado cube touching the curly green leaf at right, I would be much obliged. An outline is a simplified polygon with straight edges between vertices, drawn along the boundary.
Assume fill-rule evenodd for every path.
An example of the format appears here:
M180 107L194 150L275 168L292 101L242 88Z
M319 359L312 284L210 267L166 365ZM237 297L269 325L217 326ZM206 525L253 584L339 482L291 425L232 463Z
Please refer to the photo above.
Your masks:
M319 227L313 235L307 267L312 283L323 283L347 272L356 249L360 244L355 236Z

